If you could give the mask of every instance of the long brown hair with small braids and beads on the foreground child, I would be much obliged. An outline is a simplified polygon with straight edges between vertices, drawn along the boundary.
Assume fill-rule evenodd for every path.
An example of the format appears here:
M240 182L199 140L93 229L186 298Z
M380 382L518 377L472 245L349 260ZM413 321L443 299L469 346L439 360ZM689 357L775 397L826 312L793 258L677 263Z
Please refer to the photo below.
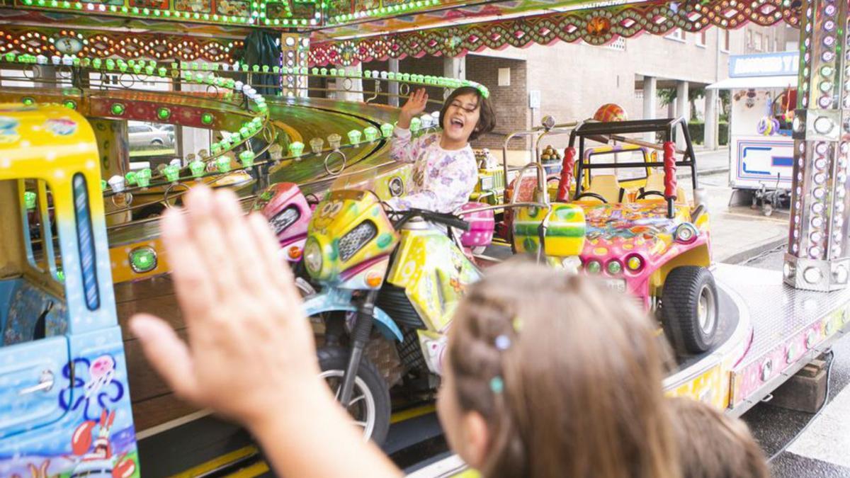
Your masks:
M470 287L449 367L461 409L490 430L485 476L678 476L655 327L612 294L515 260Z

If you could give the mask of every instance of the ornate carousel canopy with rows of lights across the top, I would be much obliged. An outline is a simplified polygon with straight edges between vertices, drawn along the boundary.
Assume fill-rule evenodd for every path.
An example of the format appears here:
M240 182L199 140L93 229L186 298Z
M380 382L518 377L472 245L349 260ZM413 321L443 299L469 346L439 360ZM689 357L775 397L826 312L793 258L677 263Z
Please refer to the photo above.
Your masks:
M796 26L801 0L0 0L0 54L229 62L256 29L311 37L310 63ZM3 4L0 3L0 4ZM5 25L3 25L5 24ZM178 28L175 28L178 26Z

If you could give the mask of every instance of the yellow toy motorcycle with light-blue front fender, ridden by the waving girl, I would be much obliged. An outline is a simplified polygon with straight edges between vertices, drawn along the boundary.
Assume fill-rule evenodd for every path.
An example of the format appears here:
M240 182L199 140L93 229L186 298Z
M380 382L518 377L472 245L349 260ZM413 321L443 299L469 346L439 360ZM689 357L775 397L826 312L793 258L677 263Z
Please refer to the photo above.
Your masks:
M364 435L380 443L389 389L433 390L445 330L479 270L435 225L468 230L453 214L394 213L369 191L332 191L315 208L304 268L321 292L304 300L320 333L322 377Z

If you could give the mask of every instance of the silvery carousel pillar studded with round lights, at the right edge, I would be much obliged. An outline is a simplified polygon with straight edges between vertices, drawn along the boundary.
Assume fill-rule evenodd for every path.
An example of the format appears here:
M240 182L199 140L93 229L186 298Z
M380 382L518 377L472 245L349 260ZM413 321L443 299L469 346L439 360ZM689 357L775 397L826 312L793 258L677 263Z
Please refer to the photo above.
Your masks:
M836 8L837 7L837 8ZM791 225L783 274L793 287L833 291L850 276L850 66L847 3L808 0L800 9L800 96L794 117ZM838 28L824 28L825 25ZM838 46L838 48L836 48Z

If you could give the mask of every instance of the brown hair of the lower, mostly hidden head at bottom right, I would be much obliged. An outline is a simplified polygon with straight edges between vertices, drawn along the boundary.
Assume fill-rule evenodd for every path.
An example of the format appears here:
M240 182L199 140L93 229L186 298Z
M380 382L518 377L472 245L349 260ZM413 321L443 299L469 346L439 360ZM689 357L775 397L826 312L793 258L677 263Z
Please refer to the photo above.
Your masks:
M746 424L689 398L669 400L683 478L768 478Z

